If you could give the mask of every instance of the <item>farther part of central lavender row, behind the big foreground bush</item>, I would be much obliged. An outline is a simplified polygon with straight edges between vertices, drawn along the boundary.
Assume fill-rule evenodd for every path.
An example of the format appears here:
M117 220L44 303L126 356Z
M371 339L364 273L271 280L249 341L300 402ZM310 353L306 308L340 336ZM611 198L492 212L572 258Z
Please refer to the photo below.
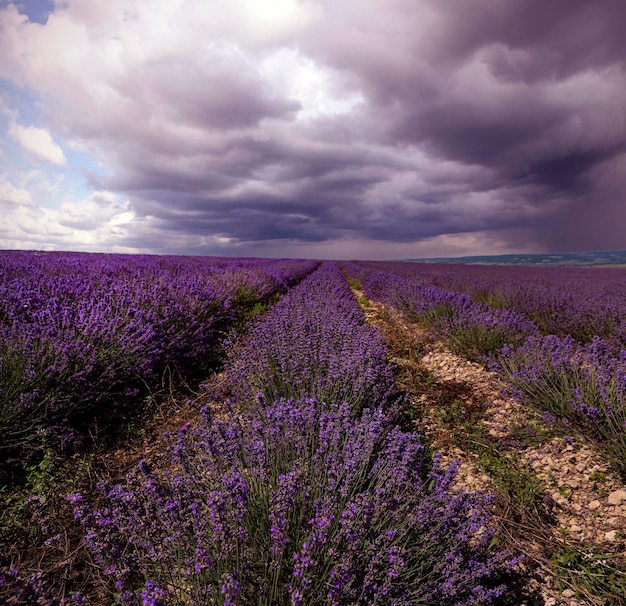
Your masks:
M290 290L228 352L233 397L316 397L356 408L397 396L386 347L348 283L325 263Z

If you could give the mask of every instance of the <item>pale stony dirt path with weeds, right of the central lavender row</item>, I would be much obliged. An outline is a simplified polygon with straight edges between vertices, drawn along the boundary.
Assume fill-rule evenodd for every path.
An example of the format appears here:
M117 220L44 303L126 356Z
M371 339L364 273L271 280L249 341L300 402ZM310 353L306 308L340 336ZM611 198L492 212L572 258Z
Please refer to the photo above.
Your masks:
M526 556L519 605L626 604L626 486L607 461L504 397L482 366L354 292L389 342L419 430L445 461L461 462L457 485L496 495L499 536Z

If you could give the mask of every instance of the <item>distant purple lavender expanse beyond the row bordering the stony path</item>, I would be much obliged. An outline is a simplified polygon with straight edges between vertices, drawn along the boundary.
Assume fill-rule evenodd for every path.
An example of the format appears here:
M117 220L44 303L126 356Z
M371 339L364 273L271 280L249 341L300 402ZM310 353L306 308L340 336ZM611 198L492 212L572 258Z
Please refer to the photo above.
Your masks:
M526 315L543 334L582 343L599 336L626 347L626 271L621 268L511 267L369 262L422 285L467 293Z

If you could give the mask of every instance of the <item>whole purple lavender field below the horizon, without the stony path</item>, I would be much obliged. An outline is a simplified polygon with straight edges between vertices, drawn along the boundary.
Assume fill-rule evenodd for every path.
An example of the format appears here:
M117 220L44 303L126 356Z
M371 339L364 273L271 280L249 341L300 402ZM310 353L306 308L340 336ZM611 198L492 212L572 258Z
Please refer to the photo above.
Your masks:
M0 600L520 604L498 497L414 422L363 306L626 479L624 294L621 270L2 252ZM100 465L155 406L188 410L160 456Z

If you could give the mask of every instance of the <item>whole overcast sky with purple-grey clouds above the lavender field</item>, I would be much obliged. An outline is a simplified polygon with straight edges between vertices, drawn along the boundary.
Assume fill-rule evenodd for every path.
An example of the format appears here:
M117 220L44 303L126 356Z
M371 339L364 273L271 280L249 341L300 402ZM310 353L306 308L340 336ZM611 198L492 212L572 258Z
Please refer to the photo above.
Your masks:
M624 0L0 0L0 248L626 248Z

